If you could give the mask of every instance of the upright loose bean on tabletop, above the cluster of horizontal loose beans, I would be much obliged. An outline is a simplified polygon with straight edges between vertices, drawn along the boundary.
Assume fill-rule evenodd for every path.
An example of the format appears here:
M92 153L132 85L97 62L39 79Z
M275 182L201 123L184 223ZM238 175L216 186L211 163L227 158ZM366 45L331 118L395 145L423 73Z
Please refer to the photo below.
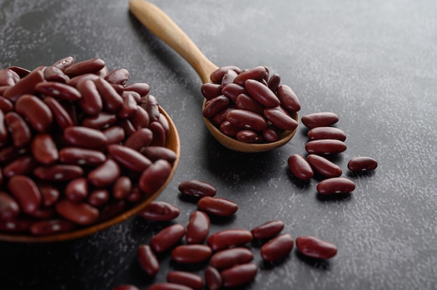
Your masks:
M206 213L193 211L186 227L186 243L188 245L203 243L209 234L210 224L211 221Z

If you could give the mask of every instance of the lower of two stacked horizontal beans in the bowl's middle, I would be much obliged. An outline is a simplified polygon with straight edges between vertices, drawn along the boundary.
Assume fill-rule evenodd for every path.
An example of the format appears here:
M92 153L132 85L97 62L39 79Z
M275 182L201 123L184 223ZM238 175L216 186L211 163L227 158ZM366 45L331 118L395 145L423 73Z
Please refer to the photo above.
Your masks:
M96 166L105 160L106 156L101 151L87 148L65 147L59 151L59 161L69 165Z

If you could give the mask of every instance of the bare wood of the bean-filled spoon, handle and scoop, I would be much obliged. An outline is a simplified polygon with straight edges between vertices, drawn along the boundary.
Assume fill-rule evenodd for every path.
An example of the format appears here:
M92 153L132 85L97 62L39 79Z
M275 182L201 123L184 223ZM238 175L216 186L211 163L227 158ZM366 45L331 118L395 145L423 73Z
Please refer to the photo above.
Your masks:
M211 82L209 76L214 70L218 68L214 63L209 61L207 57L200 52L200 49L193 43L193 41L186 36L184 31L173 22L168 15L166 15L161 9L154 4L144 0L131 0L129 1L129 8L135 17L154 33L158 38L161 38L172 49L174 49L180 56L182 56L191 67L198 73L202 83ZM206 99L203 102L205 107ZM202 107L202 109L203 109ZM297 122L299 117L297 113L292 115L292 118ZM209 119L203 118L205 125L209 132L223 144L223 146L230 148L233 151L254 153L261 151L269 151L275 148L279 148L286 144L295 135L297 128L292 131L284 131L279 140L271 143L262 144L249 144L241 142L237 139L224 135L216 126L209 121Z

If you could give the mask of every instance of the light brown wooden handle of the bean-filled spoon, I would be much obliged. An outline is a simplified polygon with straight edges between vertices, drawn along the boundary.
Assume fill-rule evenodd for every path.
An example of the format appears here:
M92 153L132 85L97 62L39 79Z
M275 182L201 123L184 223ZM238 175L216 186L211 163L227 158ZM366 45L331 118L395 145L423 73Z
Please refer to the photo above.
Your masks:
M154 4L144 0L129 1L129 8L137 19L161 38L172 49L182 56L195 72L198 73L202 83L210 82L209 75L218 68L214 63L200 52L193 41L186 36L173 20Z

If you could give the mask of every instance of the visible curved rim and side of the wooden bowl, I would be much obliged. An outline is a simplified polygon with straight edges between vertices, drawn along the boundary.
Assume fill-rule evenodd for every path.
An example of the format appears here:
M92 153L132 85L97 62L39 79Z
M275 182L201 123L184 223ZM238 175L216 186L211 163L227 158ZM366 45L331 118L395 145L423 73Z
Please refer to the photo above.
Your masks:
M112 227L114 224L119 224L120 222L124 222L125 220L128 220L128 218L139 213L142 210L142 208L145 208L145 206L147 206L150 203L150 201L156 199L156 197L158 197L158 195L161 194L161 192L163 192L163 190L168 185L168 183L170 183L172 176L175 174L177 165L179 164L179 159L181 155L181 144L180 144L179 134L177 132L175 123L173 123L172 119L170 118L170 116L168 116L167 112L165 112L164 109L159 107L159 110L161 114L165 116L165 119L167 119L170 127L170 130L168 132L166 147L172 149L172 151L175 151L177 155L176 160L172 163L172 171L170 172L170 175L168 176L165 183L161 185L161 188L156 190L156 192L154 192L153 194L147 194L147 196L145 196L141 201L138 201L138 203L136 203L134 206L129 207L126 211L112 217L110 220L105 220L104 222L93 224L89 227L82 227L80 229L75 229L73 231L68 231L59 234L52 234L47 236L34 236L32 234L12 234L12 233L0 232L0 241L46 243L46 242L67 241L74 238L88 236L96 233L97 231L108 229L109 227Z

